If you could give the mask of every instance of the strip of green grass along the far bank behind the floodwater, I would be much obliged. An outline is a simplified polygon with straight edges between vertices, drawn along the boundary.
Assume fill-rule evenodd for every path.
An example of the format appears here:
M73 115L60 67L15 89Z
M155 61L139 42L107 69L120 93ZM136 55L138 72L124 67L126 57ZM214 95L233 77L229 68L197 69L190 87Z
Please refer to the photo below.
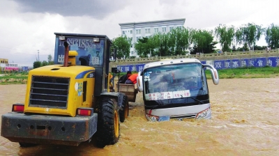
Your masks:
M211 72L206 70L206 78L211 79ZM133 72L137 73L137 72ZM120 77L126 75L121 72ZM219 79L252 79L252 78L271 78L279 77L279 67L263 67L263 68L234 68L227 70L218 70ZM0 84L27 84L28 73L3 74L0 76ZM118 74L116 75L118 77Z

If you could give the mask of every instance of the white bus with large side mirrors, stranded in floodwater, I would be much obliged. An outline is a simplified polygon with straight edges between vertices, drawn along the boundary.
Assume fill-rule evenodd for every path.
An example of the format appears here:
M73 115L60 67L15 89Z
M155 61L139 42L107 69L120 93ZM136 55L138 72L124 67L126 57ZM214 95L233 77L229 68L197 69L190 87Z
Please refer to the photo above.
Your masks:
M146 63L137 77L149 121L176 118L211 118L209 88L204 69L219 83L216 68L197 59L173 59Z

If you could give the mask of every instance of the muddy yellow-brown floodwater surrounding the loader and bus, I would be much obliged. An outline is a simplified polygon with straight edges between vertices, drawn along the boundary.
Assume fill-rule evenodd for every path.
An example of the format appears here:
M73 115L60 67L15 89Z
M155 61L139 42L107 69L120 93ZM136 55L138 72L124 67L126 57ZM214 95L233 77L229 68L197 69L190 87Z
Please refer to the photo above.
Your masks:
M209 80L212 119L147 122L142 94L113 146L20 148L0 137L0 155L279 155L279 77ZM0 85L0 115L24 102L26 85ZM1 121L0 121L1 122Z

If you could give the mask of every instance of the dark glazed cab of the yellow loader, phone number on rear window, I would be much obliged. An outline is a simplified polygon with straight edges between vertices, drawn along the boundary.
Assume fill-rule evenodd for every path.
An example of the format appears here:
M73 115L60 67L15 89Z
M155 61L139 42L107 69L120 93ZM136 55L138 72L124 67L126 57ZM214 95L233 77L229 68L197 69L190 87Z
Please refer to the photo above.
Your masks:
M75 34L75 33L54 33L56 35L54 64L63 65L65 46L68 43L68 50L76 51L75 60L69 60L72 65L86 65L95 68L94 96L100 96L107 91L107 75L109 75L110 47L112 41L107 36ZM61 40L59 38L65 38ZM75 61L75 62L73 62Z

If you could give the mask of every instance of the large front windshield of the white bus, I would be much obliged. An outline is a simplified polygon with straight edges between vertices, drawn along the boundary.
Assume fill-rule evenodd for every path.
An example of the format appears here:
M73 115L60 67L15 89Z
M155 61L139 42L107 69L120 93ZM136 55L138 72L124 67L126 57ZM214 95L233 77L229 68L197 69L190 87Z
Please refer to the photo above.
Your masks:
M165 100L208 94L202 64L181 63L144 70L144 99Z

